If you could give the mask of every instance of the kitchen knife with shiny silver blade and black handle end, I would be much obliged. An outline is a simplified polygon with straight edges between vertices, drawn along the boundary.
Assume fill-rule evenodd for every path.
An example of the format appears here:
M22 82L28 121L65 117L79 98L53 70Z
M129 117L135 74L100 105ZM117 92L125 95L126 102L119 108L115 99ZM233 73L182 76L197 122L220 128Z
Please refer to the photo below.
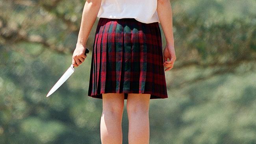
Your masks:
M89 50L86 48L85 55L89 53ZM73 74L75 71L74 66L71 64L69 68L66 70L66 72L59 78L59 80L55 83L55 85L52 87L52 89L48 92L46 97L50 96L52 93L54 93L59 87Z

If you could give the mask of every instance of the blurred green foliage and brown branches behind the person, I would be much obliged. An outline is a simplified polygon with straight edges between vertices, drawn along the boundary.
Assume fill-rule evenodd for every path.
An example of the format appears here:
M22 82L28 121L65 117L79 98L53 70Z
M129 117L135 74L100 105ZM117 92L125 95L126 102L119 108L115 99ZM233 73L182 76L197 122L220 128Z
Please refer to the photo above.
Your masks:
M100 144L102 100L87 96L98 18L87 58L46 98L72 62L84 3L0 1L0 144ZM150 144L256 144L256 1L171 5L177 60L169 98L150 101ZM128 144L126 108L122 131Z

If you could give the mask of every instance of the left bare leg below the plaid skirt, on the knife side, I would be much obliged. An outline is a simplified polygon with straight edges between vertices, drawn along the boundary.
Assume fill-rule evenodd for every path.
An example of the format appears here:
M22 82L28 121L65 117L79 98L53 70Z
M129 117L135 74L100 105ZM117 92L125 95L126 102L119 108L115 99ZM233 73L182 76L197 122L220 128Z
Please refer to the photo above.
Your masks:
M124 94L102 94L100 139L102 144L122 144Z

